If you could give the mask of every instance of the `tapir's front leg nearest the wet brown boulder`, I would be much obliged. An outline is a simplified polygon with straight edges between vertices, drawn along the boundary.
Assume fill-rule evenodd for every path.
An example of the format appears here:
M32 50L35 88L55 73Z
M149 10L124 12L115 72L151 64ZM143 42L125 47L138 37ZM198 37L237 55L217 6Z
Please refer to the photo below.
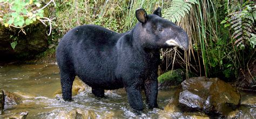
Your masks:
M152 74L153 75L153 74ZM146 94L149 109L157 108L158 80L157 76L152 76L144 80L144 91Z

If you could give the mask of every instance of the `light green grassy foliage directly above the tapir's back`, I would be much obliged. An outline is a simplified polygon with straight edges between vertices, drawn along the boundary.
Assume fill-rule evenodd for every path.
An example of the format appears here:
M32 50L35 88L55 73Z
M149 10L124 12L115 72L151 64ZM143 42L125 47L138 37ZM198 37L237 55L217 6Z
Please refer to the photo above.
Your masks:
M139 1L59 1L56 3L56 21L54 32L63 35L71 28L84 24L96 24L115 32L129 31L136 23L135 11L144 8L152 13L158 6L163 6L161 0ZM69 19L63 19L69 18Z

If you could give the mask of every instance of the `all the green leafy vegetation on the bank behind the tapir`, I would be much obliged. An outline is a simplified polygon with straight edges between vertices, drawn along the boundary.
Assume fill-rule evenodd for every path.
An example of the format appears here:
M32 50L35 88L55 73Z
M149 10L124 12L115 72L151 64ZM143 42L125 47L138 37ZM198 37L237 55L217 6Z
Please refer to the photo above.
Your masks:
M31 1L19 1L22 2L25 4L18 8L27 9L26 12L22 9L17 12L6 5L16 3L6 3L3 0L0 2L6 8L1 9L3 12L0 14L3 25L23 27L26 25L26 19L33 21L35 18L38 20L37 16L42 18L39 13L44 11L37 11L37 0L33 0L31 4ZM183 27L190 39L188 51L180 51L177 48L161 49L160 58L165 66L160 67L159 71L174 69L178 64L187 69L187 73L191 70L198 76L233 80L238 77L239 69L246 69L248 62L255 59L255 3L250 1L59 0L55 8L50 8L50 14L55 18L52 21L52 41L57 44L58 39L71 28L84 24L96 24L123 33L137 23L134 16L136 9L144 8L152 13L158 6L161 6L163 17ZM7 9L11 12L7 13ZM12 12L17 12L18 16L23 18L16 18L17 23L12 23ZM3 13L7 13L5 19Z

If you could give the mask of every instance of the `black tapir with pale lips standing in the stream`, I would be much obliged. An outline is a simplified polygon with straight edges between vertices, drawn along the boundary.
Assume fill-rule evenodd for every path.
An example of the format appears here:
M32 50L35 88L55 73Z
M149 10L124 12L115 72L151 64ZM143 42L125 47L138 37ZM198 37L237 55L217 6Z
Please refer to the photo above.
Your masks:
M182 28L161 18L160 8L153 14L138 9L136 18L139 22L125 33L82 25L63 36L56 57L64 100L72 100L72 84L78 76L97 97L103 97L104 90L125 87L130 106L140 111L143 88L149 108L158 107L159 49L178 46L186 50L188 36Z

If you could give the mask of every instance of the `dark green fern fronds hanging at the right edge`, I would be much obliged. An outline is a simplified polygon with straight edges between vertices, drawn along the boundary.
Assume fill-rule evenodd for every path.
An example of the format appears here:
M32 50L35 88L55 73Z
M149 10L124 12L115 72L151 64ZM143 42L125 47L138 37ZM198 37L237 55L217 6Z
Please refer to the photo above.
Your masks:
M245 2L240 4L238 1L231 1L230 13L227 18L221 22L226 23L225 27L230 26L232 31L232 40L240 49L244 49L248 44L252 44L250 38L254 32L255 3Z

